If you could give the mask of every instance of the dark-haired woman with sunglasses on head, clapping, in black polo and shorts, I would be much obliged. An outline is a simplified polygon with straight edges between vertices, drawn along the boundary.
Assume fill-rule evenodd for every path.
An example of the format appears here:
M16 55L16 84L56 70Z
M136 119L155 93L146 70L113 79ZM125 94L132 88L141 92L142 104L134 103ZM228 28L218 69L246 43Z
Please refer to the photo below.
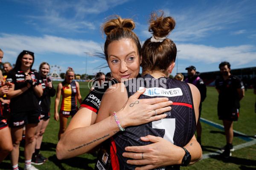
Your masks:
M13 150L11 152L12 169L18 170L19 146L22 139L23 126L26 126L25 136L25 167L24 170L37 170L32 164L32 153L35 148L35 131L40 119L40 105L37 97L41 97L43 89L38 72L32 70L35 61L34 53L22 51L16 60L15 68L6 78L12 83L8 99L11 99L10 124Z

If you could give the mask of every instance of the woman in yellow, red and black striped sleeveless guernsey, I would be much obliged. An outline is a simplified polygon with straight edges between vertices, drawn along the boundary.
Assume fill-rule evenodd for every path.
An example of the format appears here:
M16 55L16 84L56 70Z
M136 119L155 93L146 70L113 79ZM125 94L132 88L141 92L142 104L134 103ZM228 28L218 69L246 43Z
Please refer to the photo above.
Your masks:
M81 94L79 89L79 83L73 81L75 77L75 72L73 68L68 68L65 74L65 79L63 82L58 84L56 99L55 99L55 113L54 119L58 121L60 119L60 129L58 132L58 139L61 139L61 136L66 130L67 119L69 116L73 117L78 111L77 101L81 104ZM58 113L58 105L61 100L61 109Z

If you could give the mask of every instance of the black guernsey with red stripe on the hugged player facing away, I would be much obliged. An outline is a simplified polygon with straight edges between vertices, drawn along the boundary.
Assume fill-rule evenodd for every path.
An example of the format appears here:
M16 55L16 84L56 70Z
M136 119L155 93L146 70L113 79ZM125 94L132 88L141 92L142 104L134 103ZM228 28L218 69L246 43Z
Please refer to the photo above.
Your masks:
M114 142L111 142L113 169L134 170L135 167L138 167L138 165L127 164L128 159L123 157L122 153L125 152L127 146L151 144L151 142L140 140L142 136L160 136L179 147L185 146L192 139L196 129L196 119L192 93L187 83L166 77L154 79L151 75L146 74L141 78L128 80L124 84L128 97L140 88L145 87L147 90L139 99L168 97L169 100L173 101L173 105L171 111L164 113L167 114L166 118L139 126L126 127L125 131L120 131L113 136ZM134 105L136 105L136 102ZM113 154L117 156L118 160ZM180 166L161 168L161 170L173 170L180 169Z

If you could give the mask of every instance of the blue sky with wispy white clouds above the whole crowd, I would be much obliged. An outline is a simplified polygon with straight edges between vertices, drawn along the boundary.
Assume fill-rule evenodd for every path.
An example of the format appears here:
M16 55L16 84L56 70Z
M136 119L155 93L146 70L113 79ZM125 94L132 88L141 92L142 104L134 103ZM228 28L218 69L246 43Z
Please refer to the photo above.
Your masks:
M143 43L151 37L148 15L161 9L176 21L169 35L179 50L173 76L189 65L199 72L217 71L224 60L231 69L255 67L255 7L255 0L0 0L0 48L3 62L15 63L21 51L29 50L37 70L48 62L61 72L73 67L76 74L91 75L105 63L86 53L102 52L100 25L106 17L133 18Z

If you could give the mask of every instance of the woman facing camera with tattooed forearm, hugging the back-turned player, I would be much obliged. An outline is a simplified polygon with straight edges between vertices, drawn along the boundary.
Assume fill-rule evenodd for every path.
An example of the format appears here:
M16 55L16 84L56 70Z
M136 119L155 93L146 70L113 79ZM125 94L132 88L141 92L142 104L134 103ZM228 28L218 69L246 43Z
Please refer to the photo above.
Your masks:
M119 16L113 16L102 25L102 33L107 35L104 45L104 55L114 78L112 80L113 84L140 76L141 45L139 38L132 31L134 28L135 23L133 20L124 19ZM113 53L114 50L117 50L116 53ZM58 159L67 159L89 153L94 147L97 147L106 139L109 139L119 132L119 127L116 125L113 113L108 118L95 123L99 108L101 108L102 96L107 89L108 87L106 86L102 89L95 88L84 99L79 111L73 119L71 119L67 130L57 144L56 155ZM119 111L116 111L117 120L123 128L162 119L166 117L166 115L161 115L161 113L171 110L170 105L172 105L172 101L168 101L166 97L138 99L144 92L145 89L137 91L134 95L129 97L125 105L123 105ZM112 105L111 103L113 101L118 102L118 100L119 98L117 96L113 97L109 100L109 105L114 107L115 104ZM133 107L130 107L130 105ZM104 109L102 111L104 112ZM155 114L156 112L157 115ZM77 138L78 135L79 138ZM166 158L166 155L161 152L166 149L166 142L156 138L155 136L147 136L146 140L152 141L153 144L148 144L143 146L144 148L140 148L143 150L154 150L151 154L148 154L148 157L143 161L145 165L157 164L160 166L162 162L154 161L155 156L159 158L158 160L162 160L162 157ZM200 150L201 147L199 144L194 144L196 140L192 140L190 143L193 142L193 147L190 146L190 143L188 144L192 148L192 150L190 148L192 159L199 160L201 155L193 153L197 153L197 150ZM108 147L107 150L109 150L110 144L106 147ZM179 147L175 147L171 144L169 144L168 148L170 148L168 150L170 153L170 156L168 155L169 164L178 164L184 156L184 150L180 150ZM187 149L188 148L189 147L187 147ZM130 148L130 151L131 155L128 155L128 157L134 158L134 156L137 155L136 150ZM106 151L106 153L108 153L108 151ZM140 162L132 163L141 164ZM105 169L106 168L107 167L105 167Z

